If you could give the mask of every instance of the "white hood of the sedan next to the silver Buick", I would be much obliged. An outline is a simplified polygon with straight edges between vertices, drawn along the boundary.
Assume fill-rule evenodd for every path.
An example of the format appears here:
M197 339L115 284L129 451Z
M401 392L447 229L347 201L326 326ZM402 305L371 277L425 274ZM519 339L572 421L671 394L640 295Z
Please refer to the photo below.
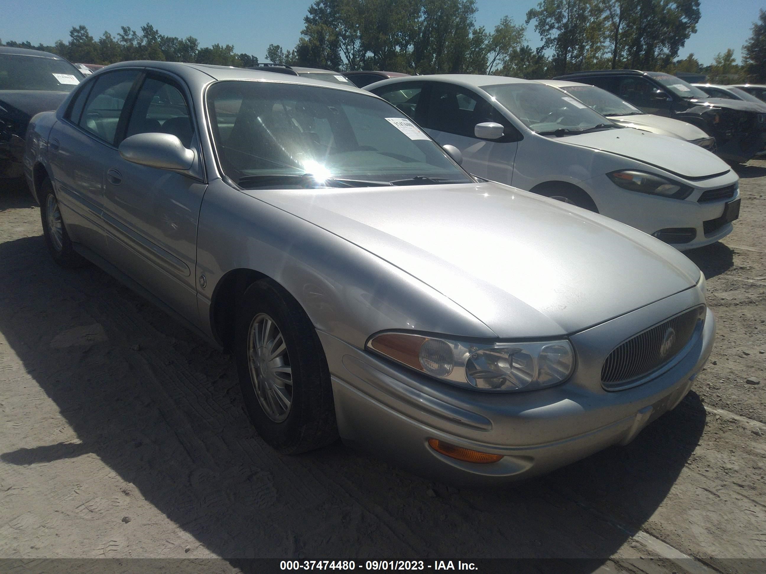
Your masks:
M683 178L705 178L729 171L725 161L699 145L637 129L605 129L568 135L558 141L643 161Z

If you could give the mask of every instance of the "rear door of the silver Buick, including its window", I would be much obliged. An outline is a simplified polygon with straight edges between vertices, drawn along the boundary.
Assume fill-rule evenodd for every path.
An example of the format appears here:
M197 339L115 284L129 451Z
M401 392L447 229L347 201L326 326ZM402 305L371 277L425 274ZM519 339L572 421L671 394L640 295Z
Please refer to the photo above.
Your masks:
M117 126L139 73L115 70L84 83L48 140L48 157L67 232L75 243L83 243L101 256L106 255L104 178L119 158Z

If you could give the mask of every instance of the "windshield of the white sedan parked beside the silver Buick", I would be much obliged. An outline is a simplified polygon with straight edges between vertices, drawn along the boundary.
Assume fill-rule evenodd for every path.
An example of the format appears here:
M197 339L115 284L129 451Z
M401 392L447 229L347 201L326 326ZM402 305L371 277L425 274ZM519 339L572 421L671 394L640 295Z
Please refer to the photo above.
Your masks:
M502 83L483 86L483 90L505 106L529 129L539 134L582 132L615 126L584 103L542 83Z

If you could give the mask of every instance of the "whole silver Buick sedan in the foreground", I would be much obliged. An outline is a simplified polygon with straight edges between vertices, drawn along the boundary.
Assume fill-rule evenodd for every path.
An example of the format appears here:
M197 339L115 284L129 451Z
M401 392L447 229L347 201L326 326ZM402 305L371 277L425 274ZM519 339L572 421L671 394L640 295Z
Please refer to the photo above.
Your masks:
M474 178L355 87L114 64L26 142L56 262L232 349L283 453L340 436L445 481L528 478L630 442L711 351L686 256Z

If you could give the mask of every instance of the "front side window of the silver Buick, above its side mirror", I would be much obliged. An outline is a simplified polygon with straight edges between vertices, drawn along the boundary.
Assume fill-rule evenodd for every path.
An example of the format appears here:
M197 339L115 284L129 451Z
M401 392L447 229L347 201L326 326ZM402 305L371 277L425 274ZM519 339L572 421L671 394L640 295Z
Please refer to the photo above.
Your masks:
M147 77L130 113L125 137L148 132L175 135L186 148L191 147L194 129L189 109L181 90L169 78Z

